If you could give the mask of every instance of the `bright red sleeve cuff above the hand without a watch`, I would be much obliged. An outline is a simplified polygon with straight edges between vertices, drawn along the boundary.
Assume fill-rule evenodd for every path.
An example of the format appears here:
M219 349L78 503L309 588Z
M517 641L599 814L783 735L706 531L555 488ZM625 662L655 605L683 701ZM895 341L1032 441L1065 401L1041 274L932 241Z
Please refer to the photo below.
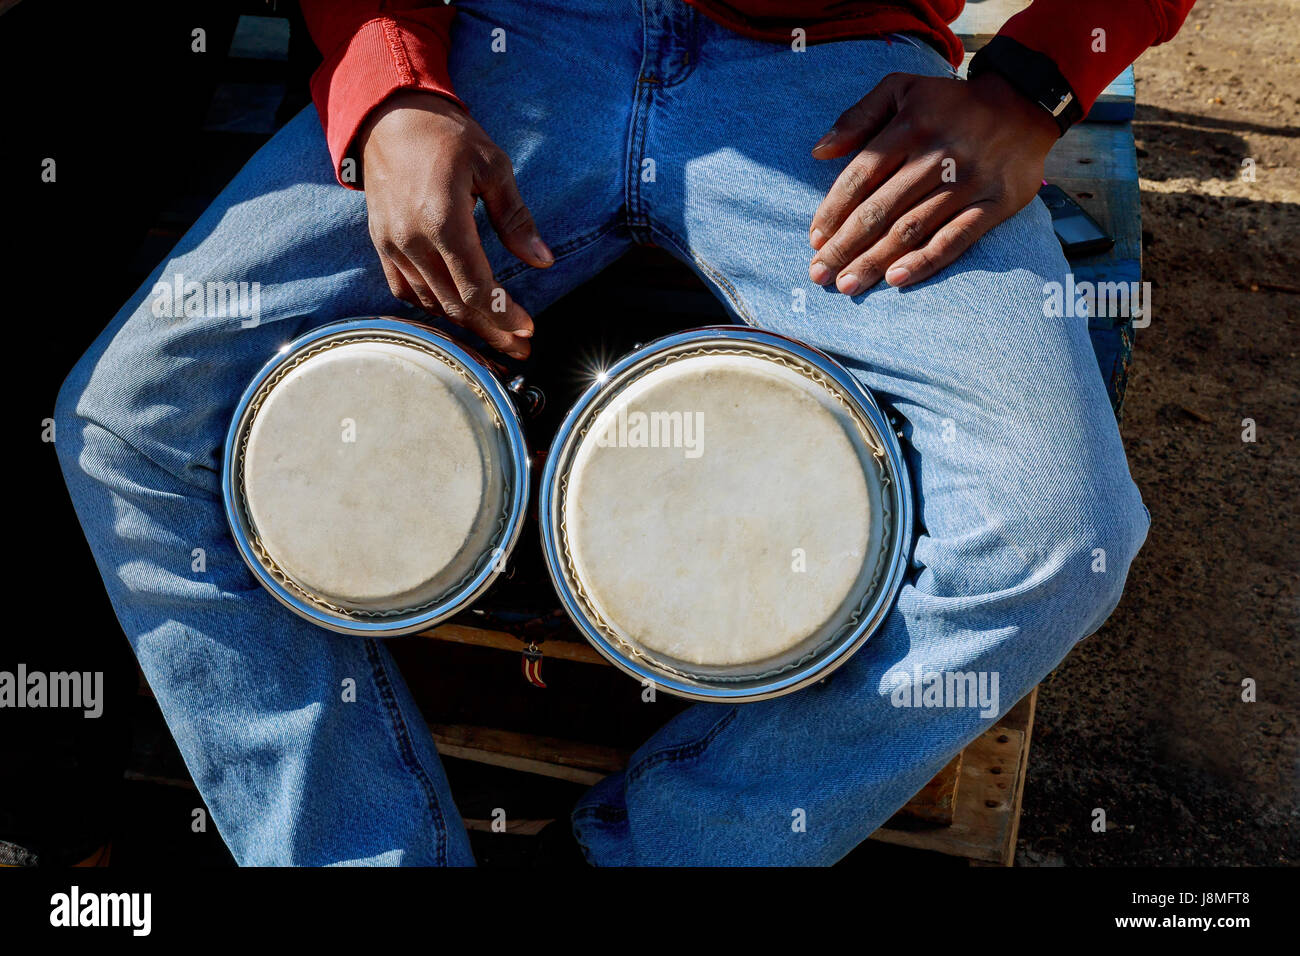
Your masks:
M464 107L451 90L446 43L422 23L370 20L312 75L312 100L341 185L359 187L356 166L344 169L343 161L365 117L398 90L426 90Z

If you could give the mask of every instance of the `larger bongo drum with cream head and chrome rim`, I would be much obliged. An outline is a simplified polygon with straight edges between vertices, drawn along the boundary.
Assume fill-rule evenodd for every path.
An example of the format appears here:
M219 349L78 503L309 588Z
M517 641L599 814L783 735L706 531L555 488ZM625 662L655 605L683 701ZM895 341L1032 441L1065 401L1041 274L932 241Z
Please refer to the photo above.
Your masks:
M815 349L744 326L642 346L560 425L541 531L569 617L614 665L696 700L789 693L842 665L902 584L897 436Z

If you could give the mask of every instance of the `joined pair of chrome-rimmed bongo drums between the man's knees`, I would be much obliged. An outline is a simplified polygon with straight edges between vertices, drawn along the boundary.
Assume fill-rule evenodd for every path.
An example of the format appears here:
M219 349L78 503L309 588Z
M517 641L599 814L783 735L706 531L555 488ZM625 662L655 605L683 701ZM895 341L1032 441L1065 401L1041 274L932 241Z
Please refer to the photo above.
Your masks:
M230 424L239 553L333 631L412 633L467 610L528 516L523 394L419 323L302 336ZM890 423L841 365L718 326L597 376L550 446L537 518L560 604L601 654L679 696L749 701L870 637L902 584L913 502Z

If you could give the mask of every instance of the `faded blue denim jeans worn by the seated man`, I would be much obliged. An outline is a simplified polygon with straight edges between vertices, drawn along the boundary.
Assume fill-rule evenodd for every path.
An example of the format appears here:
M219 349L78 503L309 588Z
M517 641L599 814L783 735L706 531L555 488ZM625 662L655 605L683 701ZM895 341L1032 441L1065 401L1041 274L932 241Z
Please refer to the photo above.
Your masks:
M1066 263L1039 202L916 287L849 298L810 282L809 221L844 161L809 150L890 72L948 66L902 36L796 52L677 0L460 4L456 90L512 157L556 255L547 271L523 265L480 216L510 294L537 315L633 243L671 250L737 321L831 352L902 412L919 494L911 574L875 637L824 684L671 721L575 810L592 862L842 857L1105 620L1147 533L1086 320L1043 315ZM177 274L259 282L260 323L160 317L151 290ZM412 312L308 109L60 393L82 527L242 864L472 862L382 641L281 609L235 553L218 498L224 432L254 372L308 328L373 313ZM930 672L996 675L998 701L900 706L898 688Z

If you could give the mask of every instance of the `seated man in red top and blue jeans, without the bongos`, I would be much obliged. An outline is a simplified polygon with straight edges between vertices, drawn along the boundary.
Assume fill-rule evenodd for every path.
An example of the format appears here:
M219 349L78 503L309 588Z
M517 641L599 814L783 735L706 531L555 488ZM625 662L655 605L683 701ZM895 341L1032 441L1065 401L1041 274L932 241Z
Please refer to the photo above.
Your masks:
M1037 0L968 82L959 0L302 5L315 108L57 408L109 596L239 862L472 862L387 650L283 610L226 528L234 403L326 321L445 316L524 359L534 315L654 243L906 421L919 535L880 631L824 685L663 727L575 810L593 864L833 862L996 719L897 708L887 675L997 674L1005 711L1114 609L1148 515L1087 320L1044 315L1067 265L1035 194L1191 0ZM159 317L174 276L259 282L259 321Z

